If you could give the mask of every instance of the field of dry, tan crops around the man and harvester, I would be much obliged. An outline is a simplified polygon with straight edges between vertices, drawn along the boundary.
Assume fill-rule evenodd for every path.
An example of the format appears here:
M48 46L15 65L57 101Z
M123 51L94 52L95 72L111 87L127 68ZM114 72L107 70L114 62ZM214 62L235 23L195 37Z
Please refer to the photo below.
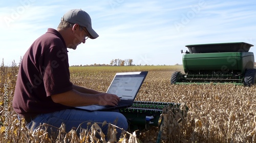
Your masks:
M119 142L256 142L256 86L232 84L170 85L174 71L182 66L125 66L125 67L70 67L71 81L80 86L106 91L117 72L148 71L136 101L182 103L189 108L184 120L176 121L171 112L161 114L162 126L135 132L123 131ZM65 125L51 127L43 124L35 131L28 129L24 119L18 120L12 109L18 65L12 62L0 67L0 142L117 142L115 125L109 127L109 140L104 140L98 123L90 123L88 129L65 131ZM167 110L169 111L169 110ZM45 128L57 128L56 137ZM101 138L96 138L99 133ZM101 139L101 140L100 140Z

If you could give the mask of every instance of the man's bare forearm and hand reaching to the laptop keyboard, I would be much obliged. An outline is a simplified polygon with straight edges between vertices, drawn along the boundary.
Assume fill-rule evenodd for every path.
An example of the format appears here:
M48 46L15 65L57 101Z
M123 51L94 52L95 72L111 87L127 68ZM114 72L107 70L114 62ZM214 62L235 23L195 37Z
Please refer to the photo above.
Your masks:
M115 94L101 93L90 94L82 93L75 89L63 92L60 94L54 94L51 96L53 102L66 106L87 106L87 105L110 105L116 106L120 99Z

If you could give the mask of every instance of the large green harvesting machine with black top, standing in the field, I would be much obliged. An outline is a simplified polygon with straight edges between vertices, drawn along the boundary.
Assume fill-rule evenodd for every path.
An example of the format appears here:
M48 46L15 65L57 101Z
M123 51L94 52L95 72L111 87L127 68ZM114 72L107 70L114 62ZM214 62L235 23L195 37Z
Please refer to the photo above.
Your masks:
M189 51L182 58L185 74L176 71L170 83L256 84L254 55L248 52L251 46L245 42L186 45Z

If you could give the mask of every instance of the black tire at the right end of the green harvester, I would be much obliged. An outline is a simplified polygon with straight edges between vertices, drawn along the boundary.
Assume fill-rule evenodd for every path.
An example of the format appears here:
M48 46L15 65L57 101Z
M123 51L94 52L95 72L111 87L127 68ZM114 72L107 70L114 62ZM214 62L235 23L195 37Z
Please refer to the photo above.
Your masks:
M249 87L256 84L256 69L246 69L244 75L244 84Z

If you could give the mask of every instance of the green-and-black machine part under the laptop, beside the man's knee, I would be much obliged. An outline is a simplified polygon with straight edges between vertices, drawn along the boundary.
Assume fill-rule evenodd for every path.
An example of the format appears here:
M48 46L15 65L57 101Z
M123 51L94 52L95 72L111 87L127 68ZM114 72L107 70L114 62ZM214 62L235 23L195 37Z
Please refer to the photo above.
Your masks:
M173 115L177 123L184 121L187 115L188 107L181 103L170 102L148 102L134 101L131 107L119 110L129 123L129 131L140 131L150 129L151 127L159 127L157 143L161 141L161 133L164 126L163 121L166 120L161 116L167 112Z

